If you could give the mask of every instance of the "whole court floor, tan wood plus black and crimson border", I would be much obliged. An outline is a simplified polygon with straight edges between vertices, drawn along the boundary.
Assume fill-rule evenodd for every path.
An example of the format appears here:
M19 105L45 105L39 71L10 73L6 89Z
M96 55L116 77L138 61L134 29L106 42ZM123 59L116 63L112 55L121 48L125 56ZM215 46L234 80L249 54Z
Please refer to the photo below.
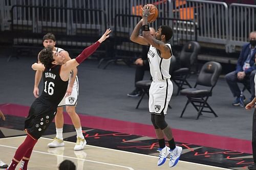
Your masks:
M0 121L0 159L8 164L17 147L26 137L23 122L28 109L27 106L15 104L0 105L0 110L6 114L7 118L6 121ZM87 170L169 168L168 160L162 166L156 165L159 154L156 150L159 146L151 126L80 115L83 134L88 144L82 151L74 151L76 132L68 114L64 114L64 117L65 147L47 147L47 143L55 137L55 125L52 123L35 146L29 169L57 169L58 164L65 159L72 160L77 169ZM174 129L173 132L176 134L177 130ZM182 138L176 135L178 140L176 143L183 148L183 152L180 162L172 169L247 169L247 166L253 162L252 155L248 154L249 150L246 147L248 143L243 140L204 136L199 133L188 135L186 131L179 131L179 133L190 138L206 138L208 140L205 141L214 140L215 142L205 142L202 145L195 144L195 140L190 140L190 143L188 139L186 139L187 142L180 142ZM232 145L230 141L240 145L240 148ZM226 143L226 145L219 143ZM232 150L232 147L240 151ZM242 150L244 152L241 152Z

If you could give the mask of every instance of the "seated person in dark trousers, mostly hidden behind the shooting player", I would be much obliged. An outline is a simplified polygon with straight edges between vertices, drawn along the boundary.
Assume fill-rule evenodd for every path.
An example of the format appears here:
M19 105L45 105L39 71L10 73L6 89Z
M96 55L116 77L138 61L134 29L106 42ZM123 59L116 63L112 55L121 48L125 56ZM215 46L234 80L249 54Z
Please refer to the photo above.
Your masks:
M156 31L152 27L150 27L150 34L153 37L155 37ZM143 80L145 70L150 70L150 65L147 60L147 52L148 52L149 47L150 46L143 45L141 58L138 58L135 61L136 71L135 71L135 83L134 84L136 84L136 82L138 82L138 81ZM137 97L137 96L140 96L141 94L142 94L141 89L135 87L135 89L131 93L128 93L127 95L129 97Z

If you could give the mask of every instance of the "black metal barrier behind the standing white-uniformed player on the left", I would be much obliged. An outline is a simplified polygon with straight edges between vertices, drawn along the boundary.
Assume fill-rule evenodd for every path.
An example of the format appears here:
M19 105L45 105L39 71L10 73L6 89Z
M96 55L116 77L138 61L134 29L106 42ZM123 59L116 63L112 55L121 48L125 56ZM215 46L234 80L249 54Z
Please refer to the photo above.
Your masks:
M13 45L41 46L42 36L50 32L58 45L83 48L106 30L102 10L15 5L11 14Z

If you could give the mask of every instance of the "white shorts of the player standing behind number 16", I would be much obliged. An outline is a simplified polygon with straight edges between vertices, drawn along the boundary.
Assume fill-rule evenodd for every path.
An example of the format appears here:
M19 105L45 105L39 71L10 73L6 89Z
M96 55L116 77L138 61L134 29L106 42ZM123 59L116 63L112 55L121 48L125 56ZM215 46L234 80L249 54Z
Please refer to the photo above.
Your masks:
M69 79L70 81L70 79ZM77 98L78 98L78 90L79 90L79 85L78 85L78 78L76 76L76 80L73 85L72 93L69 96L64 96L61 102L58 104L58 107L62 106L76 106L77 104Z

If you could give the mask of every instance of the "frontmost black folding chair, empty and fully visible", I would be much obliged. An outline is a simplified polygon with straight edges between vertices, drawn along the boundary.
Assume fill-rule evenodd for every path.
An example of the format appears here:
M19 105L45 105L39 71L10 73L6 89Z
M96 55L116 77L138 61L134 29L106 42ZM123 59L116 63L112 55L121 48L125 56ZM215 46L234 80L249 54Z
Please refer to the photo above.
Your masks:
M215 87L219 79L221 70L222 70L222 66L218 62L209 61L205 63L202 69L200 70L195 87L186 88L180 91L180 94L186 95L188 99L180 117L183 116L186 110L186 107L189 103L191 103L195 107L195 109L198 111L197 119L199 118L200 115L202 115L202 112L213 113L215 117L218 117L217 114L214 112L214 110L212 110L210 105L207 103L207 100L209 96L212 95L212 89ZM201 88L198 88L198 85ZM208 87L208 88L205 89L205 87ZM205 110L204 108L208 108L208 109Z

